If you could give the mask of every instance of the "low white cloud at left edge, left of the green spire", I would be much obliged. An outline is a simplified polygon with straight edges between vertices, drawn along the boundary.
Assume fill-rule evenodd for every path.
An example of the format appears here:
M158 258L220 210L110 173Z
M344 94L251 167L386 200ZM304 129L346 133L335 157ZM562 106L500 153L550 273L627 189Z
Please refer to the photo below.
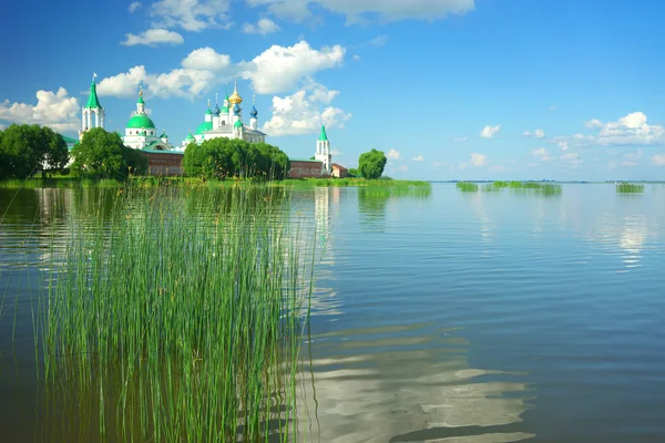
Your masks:
M37 91L37 104L0 102L0 120L12 123L40 124L54 131L74 131L80 121L79 99L68 96L64 87L58 92Z

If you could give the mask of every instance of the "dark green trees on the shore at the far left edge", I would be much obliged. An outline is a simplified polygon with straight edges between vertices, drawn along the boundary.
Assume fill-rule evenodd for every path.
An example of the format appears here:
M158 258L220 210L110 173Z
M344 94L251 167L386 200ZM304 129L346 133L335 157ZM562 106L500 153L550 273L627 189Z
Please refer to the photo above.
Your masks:
M50 127L12 124L0 134L0 179L27 178L68 162L66 143Z

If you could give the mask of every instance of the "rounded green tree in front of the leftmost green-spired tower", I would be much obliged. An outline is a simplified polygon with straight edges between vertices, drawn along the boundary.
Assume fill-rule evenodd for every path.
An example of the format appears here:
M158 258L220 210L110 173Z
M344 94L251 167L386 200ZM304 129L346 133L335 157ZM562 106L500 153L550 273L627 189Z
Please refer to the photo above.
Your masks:
M71 169L76 175L124 178L129 166L125 150L120 135L94 127L72 150L74 162Z

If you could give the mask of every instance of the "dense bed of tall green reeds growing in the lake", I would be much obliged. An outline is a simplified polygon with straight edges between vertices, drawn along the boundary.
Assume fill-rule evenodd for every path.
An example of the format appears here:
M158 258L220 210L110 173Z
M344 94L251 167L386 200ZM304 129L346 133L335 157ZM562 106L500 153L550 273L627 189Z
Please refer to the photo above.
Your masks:
M40 307L44 437L295 434L311 268L283 196L123 189L71 231Z

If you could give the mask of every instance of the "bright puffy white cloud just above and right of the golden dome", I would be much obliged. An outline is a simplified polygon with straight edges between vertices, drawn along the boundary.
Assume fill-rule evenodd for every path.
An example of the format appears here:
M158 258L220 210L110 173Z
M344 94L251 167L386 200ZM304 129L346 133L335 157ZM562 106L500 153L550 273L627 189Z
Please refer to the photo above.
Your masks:
M346 49L339 44L324 47L320 51L310 48L306 41L287 48L275 44L250 62L241 63L242 75L252 80L258 94L286 92L304 76L341 65L345 54Z

